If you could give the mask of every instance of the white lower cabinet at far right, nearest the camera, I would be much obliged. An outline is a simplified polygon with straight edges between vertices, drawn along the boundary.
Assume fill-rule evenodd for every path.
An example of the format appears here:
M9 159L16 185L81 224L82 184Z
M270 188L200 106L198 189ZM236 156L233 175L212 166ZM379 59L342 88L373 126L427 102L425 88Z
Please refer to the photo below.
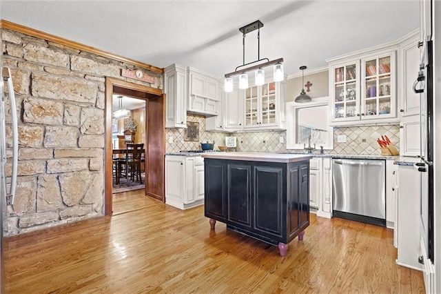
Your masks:
M413 166L398 166L398 210L396 263L421 270L420 256L420 190L418 170Z

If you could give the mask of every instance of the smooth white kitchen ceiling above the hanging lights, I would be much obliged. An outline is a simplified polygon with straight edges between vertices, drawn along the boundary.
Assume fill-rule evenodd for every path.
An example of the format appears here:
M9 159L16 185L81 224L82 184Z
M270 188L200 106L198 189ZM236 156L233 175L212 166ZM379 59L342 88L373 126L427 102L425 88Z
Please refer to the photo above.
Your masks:
M4 1L0 18L152 66L192 66L218 77L243 64L238 28L260 20L260 59L325 68L326 59L418 29L419 0ZM245 63L258 59L256 31Z

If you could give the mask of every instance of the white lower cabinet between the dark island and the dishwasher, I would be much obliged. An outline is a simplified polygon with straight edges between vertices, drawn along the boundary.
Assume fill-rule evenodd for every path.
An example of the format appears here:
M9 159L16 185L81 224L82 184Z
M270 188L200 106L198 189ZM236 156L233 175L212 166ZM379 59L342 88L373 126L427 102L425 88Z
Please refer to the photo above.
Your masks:
M309 159L309 206L319 217L331 218L331 162L331 157Z

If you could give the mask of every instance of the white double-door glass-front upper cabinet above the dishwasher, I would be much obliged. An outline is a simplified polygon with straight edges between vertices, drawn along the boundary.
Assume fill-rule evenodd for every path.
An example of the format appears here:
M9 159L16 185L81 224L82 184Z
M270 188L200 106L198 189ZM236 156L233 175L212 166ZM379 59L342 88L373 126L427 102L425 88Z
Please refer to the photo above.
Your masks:
M396 46L329 62L332 126L396 124Z

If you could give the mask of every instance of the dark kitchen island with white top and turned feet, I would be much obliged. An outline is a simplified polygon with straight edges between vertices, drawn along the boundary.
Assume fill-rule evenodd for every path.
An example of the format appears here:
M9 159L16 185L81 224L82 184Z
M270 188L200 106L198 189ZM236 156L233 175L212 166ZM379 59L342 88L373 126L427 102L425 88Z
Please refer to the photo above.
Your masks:
M205 153L205 217L278 246L303 239L309 226L309 159L312 155Z

